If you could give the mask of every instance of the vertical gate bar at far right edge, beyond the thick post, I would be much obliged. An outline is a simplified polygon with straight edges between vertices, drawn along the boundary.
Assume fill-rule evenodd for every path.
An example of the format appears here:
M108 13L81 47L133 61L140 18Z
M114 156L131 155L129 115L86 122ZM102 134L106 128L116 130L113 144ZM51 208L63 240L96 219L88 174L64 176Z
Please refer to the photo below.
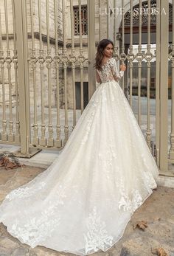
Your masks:
M172 95L171 95L171 133L170 133L170 151L169 158L174 159L174 0L173 0L173 45L170 53L170 60L172 66Z

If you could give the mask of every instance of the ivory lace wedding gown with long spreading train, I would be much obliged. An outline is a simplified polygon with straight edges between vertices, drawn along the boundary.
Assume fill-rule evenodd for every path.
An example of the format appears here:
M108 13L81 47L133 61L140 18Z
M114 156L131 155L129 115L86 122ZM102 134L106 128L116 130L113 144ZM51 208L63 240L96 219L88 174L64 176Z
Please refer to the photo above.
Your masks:
M9 193L0 222L29 246L89 255L122 237L130 216L156 188L159 170L119 83L114 58L62 153Z

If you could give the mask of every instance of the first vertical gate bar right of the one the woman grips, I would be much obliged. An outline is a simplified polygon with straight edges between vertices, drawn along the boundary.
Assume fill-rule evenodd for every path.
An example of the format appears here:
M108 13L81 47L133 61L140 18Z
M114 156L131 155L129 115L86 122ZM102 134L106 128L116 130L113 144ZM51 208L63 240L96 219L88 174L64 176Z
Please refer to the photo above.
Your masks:
M132 73L133 73L133 60L131 55L133 55L133 0L130 0L130 59L129 59L129 74L130 74L130 97L129 104L132 108Z

